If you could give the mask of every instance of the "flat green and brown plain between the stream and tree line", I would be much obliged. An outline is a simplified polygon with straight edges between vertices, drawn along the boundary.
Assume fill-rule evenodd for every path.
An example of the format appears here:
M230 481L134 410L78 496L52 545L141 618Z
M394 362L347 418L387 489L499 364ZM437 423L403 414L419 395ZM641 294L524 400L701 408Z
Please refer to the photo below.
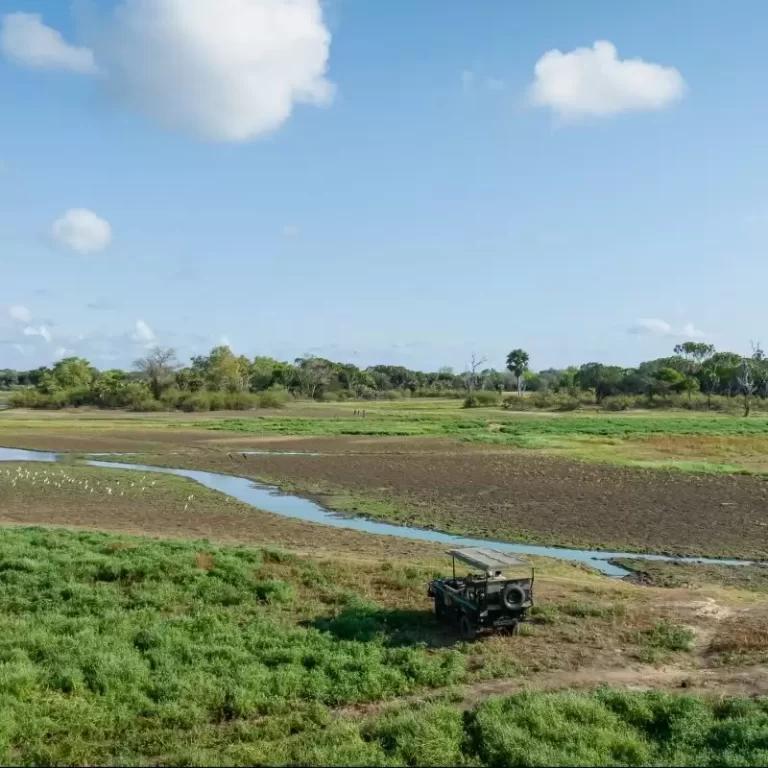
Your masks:
M14 411L0 419L0 441L130 452L143 463L252 477L342 512L451 533L768 557L763 417L469 412L455 401L359 410L297 404L215 419ZM648 458L630 458L641 454Z

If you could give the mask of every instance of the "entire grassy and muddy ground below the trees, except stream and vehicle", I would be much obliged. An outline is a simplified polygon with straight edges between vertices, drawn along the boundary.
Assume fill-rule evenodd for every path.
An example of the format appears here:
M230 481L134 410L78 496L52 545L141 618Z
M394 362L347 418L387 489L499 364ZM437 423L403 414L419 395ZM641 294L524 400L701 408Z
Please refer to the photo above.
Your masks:
M634 584L536 559L534 621L463 643L426 596L449 566L436 545L78 458L265 478L498 538L768 551L762 469L738 466L761 418L356 409L3 412L0 445L70 456L0 464L0 762L768 762L761 568L642 563ZM629 466L676 441L687 453L648 459L665 469Z

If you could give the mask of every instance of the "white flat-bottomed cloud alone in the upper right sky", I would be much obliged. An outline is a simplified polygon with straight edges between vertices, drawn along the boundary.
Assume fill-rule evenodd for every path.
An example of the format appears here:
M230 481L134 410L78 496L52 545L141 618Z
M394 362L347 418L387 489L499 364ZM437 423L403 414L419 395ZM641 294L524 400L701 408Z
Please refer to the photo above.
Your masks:
M535 67L530 99L563 117L612 115L661 109L680 99L685 81L674 67L642 59L619 59L605 40L570 53L552 50Z

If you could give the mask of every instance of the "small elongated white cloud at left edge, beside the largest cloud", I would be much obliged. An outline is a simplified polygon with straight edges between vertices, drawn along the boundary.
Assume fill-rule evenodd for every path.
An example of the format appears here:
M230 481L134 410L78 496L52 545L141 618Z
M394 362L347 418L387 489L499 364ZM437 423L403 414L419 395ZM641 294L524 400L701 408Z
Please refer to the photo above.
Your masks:
M93 51L70 45L37 13L9 13L3 17L0 51L32 69L68 69L88 75L98 72Z

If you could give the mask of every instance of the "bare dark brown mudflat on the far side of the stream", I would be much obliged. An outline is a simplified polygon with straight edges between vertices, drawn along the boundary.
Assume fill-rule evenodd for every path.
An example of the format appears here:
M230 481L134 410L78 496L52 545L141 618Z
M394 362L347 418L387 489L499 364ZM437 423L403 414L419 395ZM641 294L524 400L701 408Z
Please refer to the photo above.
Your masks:
M319 448L315 441L302 445ZM757 477L625 469L513 451L477 452L460 444L440 454L340 458L201 450L147 460L266 479L344 510L451 532L600 549L768 557L768 484Z

